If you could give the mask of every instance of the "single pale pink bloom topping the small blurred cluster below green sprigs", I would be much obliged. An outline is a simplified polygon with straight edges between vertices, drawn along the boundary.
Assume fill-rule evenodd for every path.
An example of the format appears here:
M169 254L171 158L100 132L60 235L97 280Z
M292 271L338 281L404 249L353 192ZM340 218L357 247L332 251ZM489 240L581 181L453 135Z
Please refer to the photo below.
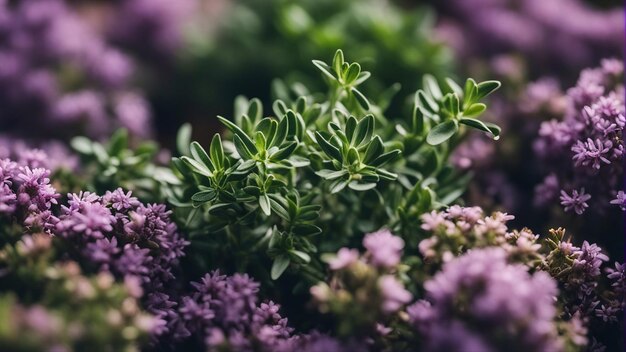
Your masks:
M404 241L392 235L389 230L381 230L365 235L363 246L367 249L372 264L389 268L400 263Z

